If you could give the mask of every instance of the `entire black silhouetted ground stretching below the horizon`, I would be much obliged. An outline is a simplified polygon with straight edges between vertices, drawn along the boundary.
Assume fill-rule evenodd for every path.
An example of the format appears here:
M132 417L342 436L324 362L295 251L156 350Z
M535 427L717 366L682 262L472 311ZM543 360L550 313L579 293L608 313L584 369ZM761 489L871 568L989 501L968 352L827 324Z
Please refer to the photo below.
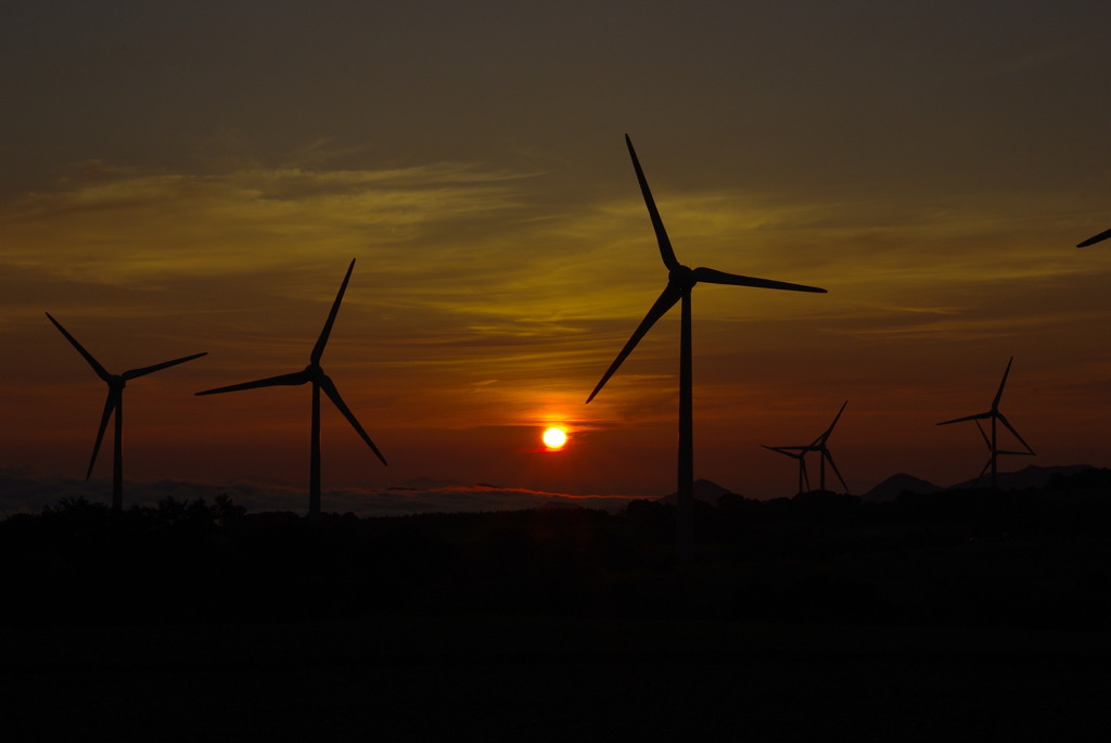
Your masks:
M1068 483L1065 483L1068 484ZM1102 740L1111 499L0 523L7 740ZM9 736L14 734L14 736Z

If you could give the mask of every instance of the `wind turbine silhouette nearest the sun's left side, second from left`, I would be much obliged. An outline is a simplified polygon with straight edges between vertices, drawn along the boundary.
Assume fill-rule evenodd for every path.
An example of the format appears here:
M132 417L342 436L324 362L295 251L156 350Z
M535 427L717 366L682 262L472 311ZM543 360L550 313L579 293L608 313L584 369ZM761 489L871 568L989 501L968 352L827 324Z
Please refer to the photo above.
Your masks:
M297 385L297 384L312 384L312 426L311 426L311 443L309 449L309 515L312 518L320 515L320 391L323 390L328 399L332 401L337 410L343 413L343 418L348 419L351 428L367 442L370 450L374 452L374 455L386 464L386 458L382 453L378 451L378 446L374 442L370 440L367 432L363 430L362 425L359 424L358 419L356 419L354 413L351 409L347 406L343 402L343 398L340 396L339 390L336 389L336 383L332 382L331 378L324 373L323 368L320 365L320 358L324 354L324 345L328 344L328 337L332 332L332 324L336 322L336 315L340 311L340 302L343 301L343 292L347 291L348 281L351 279L351 271L354 269L354 259L351 259L351 265L348 267L347 275L343 277L343 283L340 284L339 293L336 294L336 301L332 302L332 309L328 313L328 320L324 321L324 328L320 331L320 338L317 339L317 344L312 347L312 353L309 355L309 365L299 372L293 372L291 374L280 374L278 376L268 376L266 379L256 380L253 382L243 382L241 384L231 384L228 386L220 386L213 390L204 390L202 392L197 392L196 394L220 394L222 392L238 392L239 390L253 390L261 386L284 386L284 385Z

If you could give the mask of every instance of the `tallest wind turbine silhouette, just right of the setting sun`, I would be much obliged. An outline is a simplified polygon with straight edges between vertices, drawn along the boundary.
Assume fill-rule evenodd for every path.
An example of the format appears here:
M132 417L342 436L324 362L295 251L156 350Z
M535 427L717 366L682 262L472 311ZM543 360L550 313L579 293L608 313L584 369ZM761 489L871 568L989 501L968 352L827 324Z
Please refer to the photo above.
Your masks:
M691 290L699 282L713 284L731 284L734 287L757 287L760 289L783 289L789 291L807 291L825 293L824 289L815 287L804 287L802 284L785 283L782 281L770 281L768 279L753 279L732 273L724 273L714 269L695 268L690 269L675 259L675 253L671 249L671 241L663 229L663 220L655 208L652 192L648 188L648 180L644 171L641 170L640 160L637 159L637 151L633 150L632 140L625 134L625 144L629 148L629 157L632 159L632 167L637 171L637 180L640 182L640 190L644 197L644 205L648 207L648 215L652 221L652 229L655 230L655 240L660 247L660 258L668 269L668 284L663 288L655 303L649 309L648 314L633 331L632 337L618 353L613 363L602 374L601 381L594 386L594 391L587 398L589 403L594 395L601 391L610 376L618 370L625 358L640 342L640 339L662 318L668 310L681 303L680 340L679 340L679 472L678 472L678 520L679 538L678 549L681 558L689 556L691 543L690 509L694 499L694 443L693 443L693 415L691 394Z

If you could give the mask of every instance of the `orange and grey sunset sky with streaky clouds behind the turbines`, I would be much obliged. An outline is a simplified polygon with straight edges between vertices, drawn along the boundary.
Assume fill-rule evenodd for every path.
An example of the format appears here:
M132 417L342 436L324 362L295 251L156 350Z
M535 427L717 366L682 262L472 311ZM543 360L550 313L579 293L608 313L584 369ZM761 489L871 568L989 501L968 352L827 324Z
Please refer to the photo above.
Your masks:
M1011 357L1038 455L1001 469L1109 466L1111 243L1074 248L1111 228L1109 27L1094 0L17 0L0 469L88 466L104 389L50 312L113 372L208 353L128 385L129 481L306 489L307 386L192 393L302 369L354 259L323 367L389 465L326 403L326 492L672 492L678 310L584 404L667 281L625 133L680 261L829 291L694 289L698 478L793 494L761 444L848 401L850 491L967 480L974 425L935 424Z

